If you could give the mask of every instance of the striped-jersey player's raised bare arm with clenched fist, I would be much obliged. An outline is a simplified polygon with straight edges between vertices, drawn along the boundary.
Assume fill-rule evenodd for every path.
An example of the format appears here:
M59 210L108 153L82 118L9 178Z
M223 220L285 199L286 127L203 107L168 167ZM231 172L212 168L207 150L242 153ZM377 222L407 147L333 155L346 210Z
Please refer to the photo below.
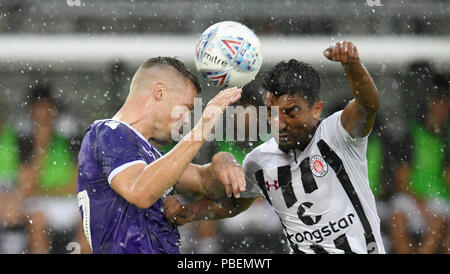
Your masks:
M344 66L355 99L341 115L344 128L353 138L367 136L375 122L379 94L369 72L359 59L358 49L352 42L337 42L324 51L325 57Z

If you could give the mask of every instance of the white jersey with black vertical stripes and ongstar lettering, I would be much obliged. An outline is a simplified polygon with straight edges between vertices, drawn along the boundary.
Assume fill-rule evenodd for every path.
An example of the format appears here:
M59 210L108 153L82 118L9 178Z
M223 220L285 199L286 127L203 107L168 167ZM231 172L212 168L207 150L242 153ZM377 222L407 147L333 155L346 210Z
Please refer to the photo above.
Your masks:
M368 137L352 138L341 114L322 120L303 151L286 153L272 138L244 160L241 197L265 196L292 253L385 253L369 187Z

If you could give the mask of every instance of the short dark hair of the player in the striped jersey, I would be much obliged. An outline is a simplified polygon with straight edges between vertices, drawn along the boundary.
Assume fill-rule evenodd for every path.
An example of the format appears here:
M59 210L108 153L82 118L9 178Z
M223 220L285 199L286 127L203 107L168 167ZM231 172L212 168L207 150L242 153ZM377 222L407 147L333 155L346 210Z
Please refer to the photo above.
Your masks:
M266 74L263 88L276 97L285 94L300 94L312 105L319 101L320 76L310 65L295 59L282 61Z

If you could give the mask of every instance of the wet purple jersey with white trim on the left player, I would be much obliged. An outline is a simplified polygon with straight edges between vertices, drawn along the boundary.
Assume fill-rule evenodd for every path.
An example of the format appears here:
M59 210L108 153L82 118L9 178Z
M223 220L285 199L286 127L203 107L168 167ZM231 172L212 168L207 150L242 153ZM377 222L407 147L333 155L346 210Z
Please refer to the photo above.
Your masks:
M162 213L162 198L140 209L110 185L127 167L161 156L124 122L102 120L89 126L78 155L78 203L93 253L179 253L180 235Z

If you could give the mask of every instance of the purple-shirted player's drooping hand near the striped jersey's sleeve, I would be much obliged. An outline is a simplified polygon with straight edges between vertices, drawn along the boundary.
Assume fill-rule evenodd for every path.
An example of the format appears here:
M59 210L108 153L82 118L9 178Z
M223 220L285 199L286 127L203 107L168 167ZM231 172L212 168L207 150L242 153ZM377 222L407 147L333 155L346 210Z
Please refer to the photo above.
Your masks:
M225 187L228 198L233 194L240 197L240 192L245 191L245 176L241 165L234 156L228 152L219 152L211 160L213 177Z

